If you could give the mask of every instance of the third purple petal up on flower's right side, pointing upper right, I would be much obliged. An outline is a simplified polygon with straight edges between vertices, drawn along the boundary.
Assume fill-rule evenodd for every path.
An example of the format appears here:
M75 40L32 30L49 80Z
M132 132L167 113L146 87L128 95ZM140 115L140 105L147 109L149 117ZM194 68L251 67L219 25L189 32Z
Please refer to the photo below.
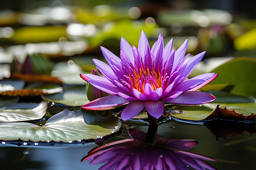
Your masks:
M178 72L178 74L181 74L181 77L183 77L183 79L181 80L181 82L183 82L188 75L195 69L195 67L198 65L198 63L201 61L201 59L204 57L205 52L199 53L196 56L192 57L191 59L189 59L189 61L187 61L180 70L184 71L180 73L180 71Z

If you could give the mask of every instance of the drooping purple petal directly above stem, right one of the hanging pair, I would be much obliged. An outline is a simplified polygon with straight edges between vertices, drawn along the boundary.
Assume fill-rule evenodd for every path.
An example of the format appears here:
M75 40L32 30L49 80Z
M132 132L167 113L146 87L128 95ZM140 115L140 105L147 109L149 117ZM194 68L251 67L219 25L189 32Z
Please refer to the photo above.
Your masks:
M164 111L163 101L145 101L144 106L147 112L155 118L159 118L162 116Z

